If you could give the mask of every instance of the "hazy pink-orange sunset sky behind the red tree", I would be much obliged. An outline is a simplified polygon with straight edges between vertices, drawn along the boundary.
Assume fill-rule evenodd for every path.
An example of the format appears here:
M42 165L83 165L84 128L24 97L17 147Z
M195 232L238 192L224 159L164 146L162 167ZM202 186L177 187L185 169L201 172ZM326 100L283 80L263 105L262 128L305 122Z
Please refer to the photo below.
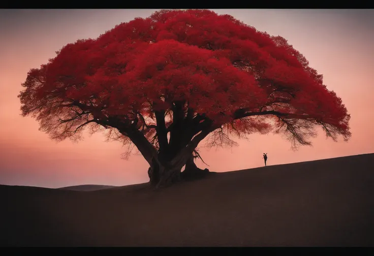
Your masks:
M148 17L157 10L0 10L0 184L63 187L79 184L127 185L147 182L141 155L120 158L119 142L102 134L56 143L20 115L17 98L27 72L78 39L97 38L116 24ZM258 30L286 38L324 76L351 114L349 142L326 139L321 130L313 147L291 150L280 135L249 136L233 148L200 148L210 171L226 172L268 165L374 152L374 11L219 9ZM198 160L198 166L206 166Z

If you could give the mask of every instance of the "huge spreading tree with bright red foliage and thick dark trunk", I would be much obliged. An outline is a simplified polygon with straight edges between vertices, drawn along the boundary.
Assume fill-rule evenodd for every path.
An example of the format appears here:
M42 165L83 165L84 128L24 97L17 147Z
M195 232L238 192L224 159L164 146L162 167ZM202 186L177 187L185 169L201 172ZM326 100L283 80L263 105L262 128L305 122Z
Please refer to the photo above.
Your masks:
M351 136L346 107L305 57L230 15L163 10L56 53L28 72L22 114L57 141L89 126L135 145L158 187L196 167L206 137L214 146L273 131L310 145L316 126Z

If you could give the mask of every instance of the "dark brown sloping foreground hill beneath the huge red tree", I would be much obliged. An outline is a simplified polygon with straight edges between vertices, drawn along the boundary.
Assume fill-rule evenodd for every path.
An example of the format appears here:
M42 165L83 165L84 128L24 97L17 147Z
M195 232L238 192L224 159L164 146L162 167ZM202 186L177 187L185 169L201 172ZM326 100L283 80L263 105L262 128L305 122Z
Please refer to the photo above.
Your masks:
M0 186L0 245L374 246L374 154L156 190Z

